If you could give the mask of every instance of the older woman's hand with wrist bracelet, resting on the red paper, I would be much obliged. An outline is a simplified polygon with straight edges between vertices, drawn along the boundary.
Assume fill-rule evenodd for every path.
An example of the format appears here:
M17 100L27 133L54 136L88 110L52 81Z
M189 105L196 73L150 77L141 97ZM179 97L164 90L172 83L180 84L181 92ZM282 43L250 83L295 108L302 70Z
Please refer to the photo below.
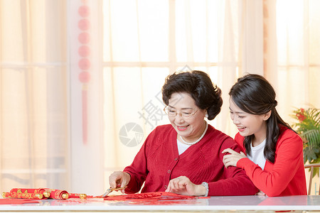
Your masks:
M206 195L206 187L194 184L186 176L180 176L170 180L166 192L173 192L179 195L203 196Z

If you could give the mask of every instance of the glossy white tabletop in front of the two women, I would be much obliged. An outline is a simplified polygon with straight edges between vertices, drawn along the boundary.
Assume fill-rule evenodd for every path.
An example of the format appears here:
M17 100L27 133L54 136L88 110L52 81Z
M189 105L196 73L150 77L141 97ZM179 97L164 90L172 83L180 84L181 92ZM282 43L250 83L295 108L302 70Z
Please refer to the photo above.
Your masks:
M104 201L95 198L41 200L38 204L0 205L0 212L234 212L235 210L237 212L283 210L320 212L320 196L225 196L156 202Z

